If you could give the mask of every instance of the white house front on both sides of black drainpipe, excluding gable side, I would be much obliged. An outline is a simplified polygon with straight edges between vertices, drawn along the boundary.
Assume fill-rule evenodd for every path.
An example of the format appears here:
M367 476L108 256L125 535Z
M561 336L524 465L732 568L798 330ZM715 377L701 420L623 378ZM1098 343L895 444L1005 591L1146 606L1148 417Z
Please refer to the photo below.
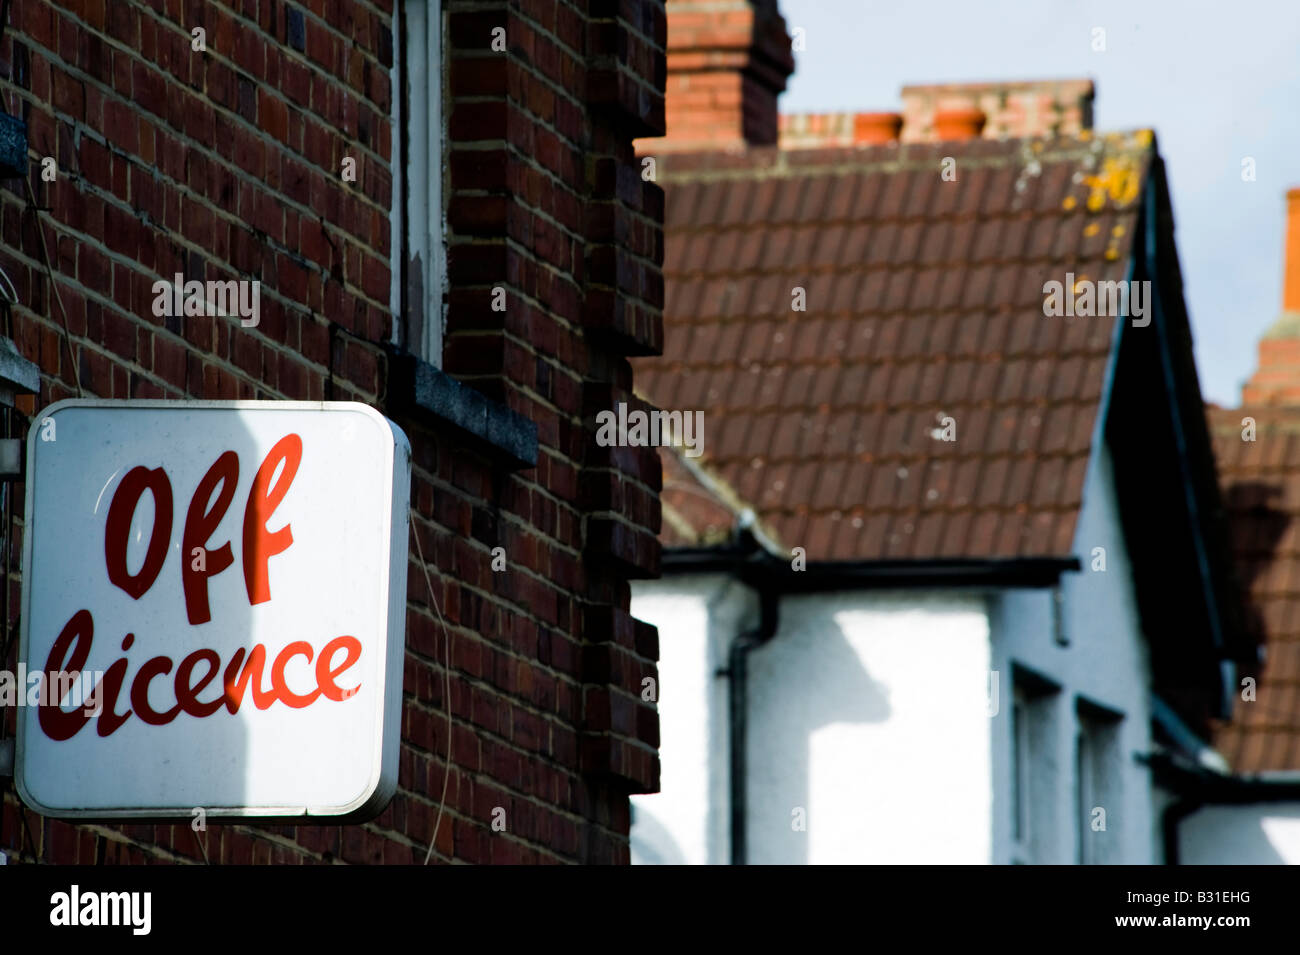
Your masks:
M757 609L723 576L634 585L633 615L659 628L662 759L660 793L632 798L634 863L729 861L718 672ZM988 861L988 659L978 596L781 600L749 656L749 861Z

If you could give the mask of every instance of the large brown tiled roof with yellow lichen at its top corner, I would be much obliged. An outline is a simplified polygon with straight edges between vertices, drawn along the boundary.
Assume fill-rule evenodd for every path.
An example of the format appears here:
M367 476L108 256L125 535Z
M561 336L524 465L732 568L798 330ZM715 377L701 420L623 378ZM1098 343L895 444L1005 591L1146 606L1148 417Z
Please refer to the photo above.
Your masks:
M1153 156L1143 131L662 157L638 391L702 409L696 464L809 560L1069 555L1114 318L1045 317L1043 287L1126 278Z

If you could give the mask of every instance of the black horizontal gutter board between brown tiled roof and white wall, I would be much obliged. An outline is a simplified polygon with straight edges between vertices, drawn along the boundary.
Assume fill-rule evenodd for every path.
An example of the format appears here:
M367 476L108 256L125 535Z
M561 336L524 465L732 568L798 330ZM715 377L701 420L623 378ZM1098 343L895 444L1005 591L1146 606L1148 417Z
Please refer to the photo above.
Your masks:
M792 561L738 544L673 547L663 552L664 577L732 573L755 587L783 594L910 587L1052 587L1061 574L1082 569L1078 557Z

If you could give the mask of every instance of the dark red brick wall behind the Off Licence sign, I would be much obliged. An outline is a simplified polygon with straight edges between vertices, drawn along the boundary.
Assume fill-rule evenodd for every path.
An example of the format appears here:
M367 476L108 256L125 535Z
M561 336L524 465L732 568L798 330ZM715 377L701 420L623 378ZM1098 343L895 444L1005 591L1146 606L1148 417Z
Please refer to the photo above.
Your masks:
M436 859L628 859L627 796L658 787L658 716L641 700L658 638L628 616L628 579L658 570L659 463L595 447L592 418L630 398L627 356L660 347L663 199L632 139L663 130L663 5L443 0L445 368L537 424L537 466L511 470L393 405L393 4L20 0L0 88L29 123L88 396L355 399L407 431L416 529L451 633L451 767L443 642L412 554L399 791L377 820L209 824L196 838L186 822L42 819L8 786L12 861L202 861L200 838L213 863L421 861L448 772ZM196 26L207 53L191 52ZM498 26L507 52L491 51ZM44 156L56 183L40 179ZM344 156L355 183L339 175ZM42 369L26 422L73 395L75 376L18 181L0 194L0 230L22 301L12 337ZM151 286L176 272L260 279L260 325L155 318ZM497 286L503 313L488 308ZM495 546L507 572L490 568Z

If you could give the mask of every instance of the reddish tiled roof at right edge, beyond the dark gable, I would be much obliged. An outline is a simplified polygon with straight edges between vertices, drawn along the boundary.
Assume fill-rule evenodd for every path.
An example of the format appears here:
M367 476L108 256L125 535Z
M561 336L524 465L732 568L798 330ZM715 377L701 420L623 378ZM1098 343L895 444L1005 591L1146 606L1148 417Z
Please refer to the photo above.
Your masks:
M1209 412L1249 621L1262 638L1254 700L1236 693L1216 748L1238 772L1300 769L1300 408ZM1256 425L1243 438L1243 421Z

